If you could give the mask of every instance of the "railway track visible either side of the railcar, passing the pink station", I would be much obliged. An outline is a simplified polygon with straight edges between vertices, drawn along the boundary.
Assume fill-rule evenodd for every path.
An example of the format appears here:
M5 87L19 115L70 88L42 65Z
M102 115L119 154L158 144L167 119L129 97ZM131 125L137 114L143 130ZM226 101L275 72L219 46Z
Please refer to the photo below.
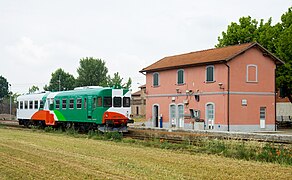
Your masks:
M19 129L25 130L24 126L18 125L18 121L16 120L0 120L0 126L5 126L10 129ZM239 141L257 141L257 142L270 142L276 144L292 144L292 136L289 135L277 135L276 138L271 135L261 135L255 134L251 136L236 134L236 136L232 134L216 134L216 133L190 133L190 132L168 132L161 130L145 130L145 129L135 129L129 128L128 133L124 133L123 136L125 138L132 138L138 140L159 140L160 142L169 142L169 143L187 143L187 144L198 144L200 141L204 139L223 139L223 140L239 140ZM287 137L286 137L287 136ZM285 138L282 138L285 137Z

